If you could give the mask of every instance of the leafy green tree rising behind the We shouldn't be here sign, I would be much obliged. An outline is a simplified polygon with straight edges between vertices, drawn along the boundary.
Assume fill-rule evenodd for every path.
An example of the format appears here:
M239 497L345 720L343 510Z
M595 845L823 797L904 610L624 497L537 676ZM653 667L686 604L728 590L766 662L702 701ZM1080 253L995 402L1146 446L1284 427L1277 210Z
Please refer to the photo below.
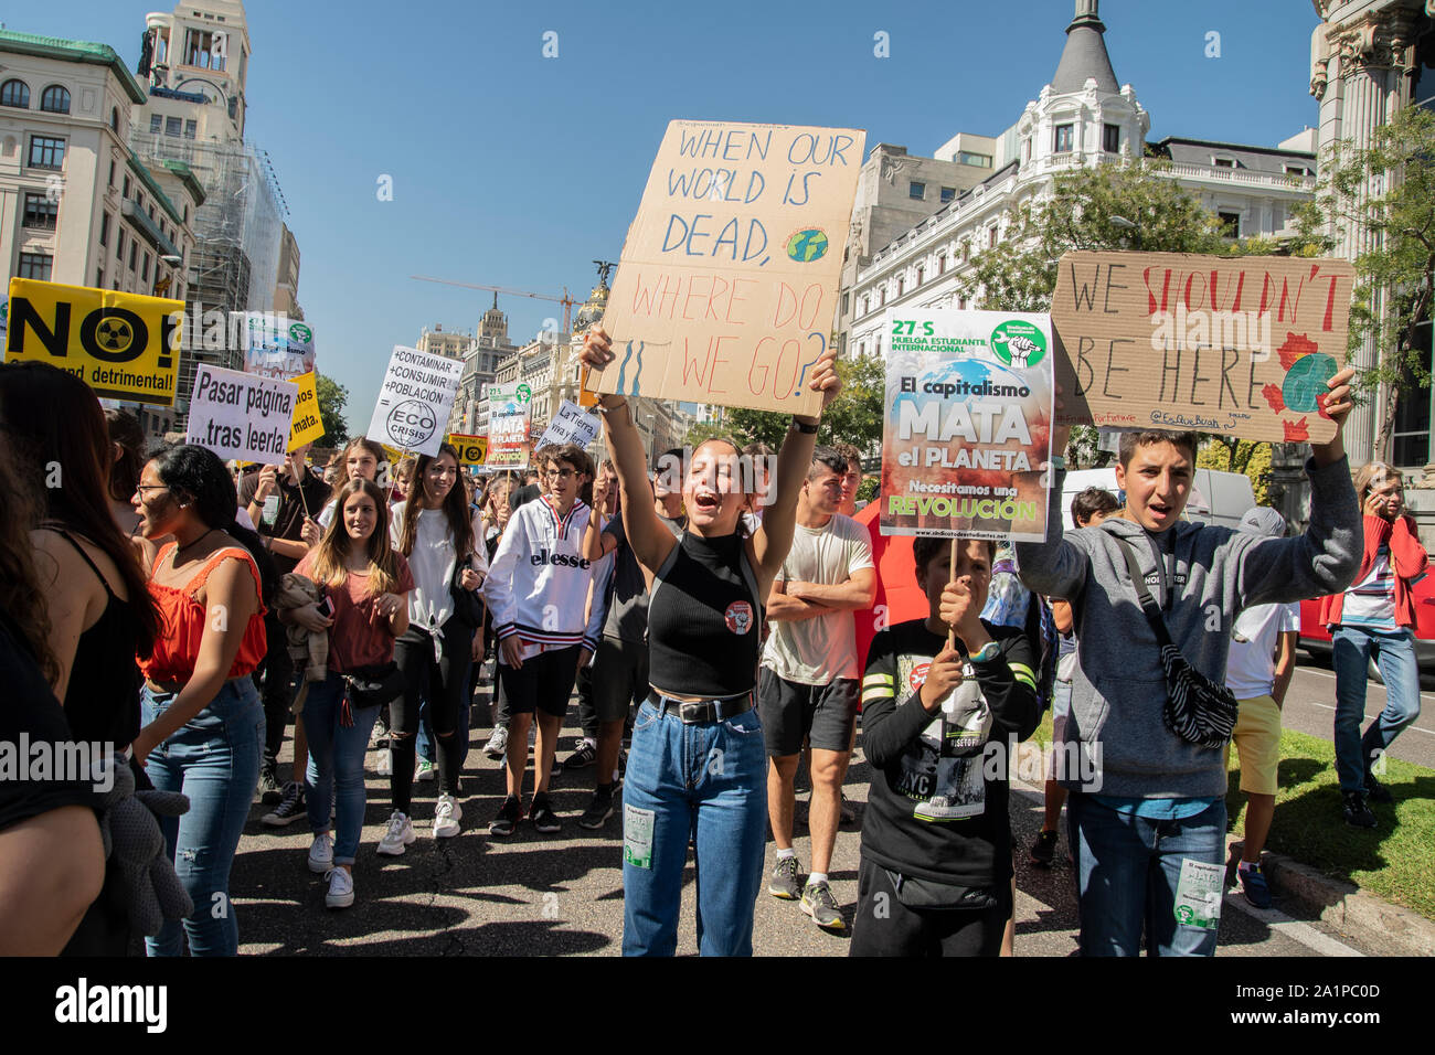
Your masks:
M961 291L982 309L1049 311L1058 264L1073 250L1264 255L1283 248L1269 238L1225 238L1220 220L1162 175L1168 165L1147 158L1141 165L1058 174L1049 198L1025 202L1009 214L1006 240L973 261ZM1302 233L1284 248L1306 253L1323 244L1319 235ZM1096 429L1072 429L1066 448L1072 468L1102 466L1109 458L1096 446Z

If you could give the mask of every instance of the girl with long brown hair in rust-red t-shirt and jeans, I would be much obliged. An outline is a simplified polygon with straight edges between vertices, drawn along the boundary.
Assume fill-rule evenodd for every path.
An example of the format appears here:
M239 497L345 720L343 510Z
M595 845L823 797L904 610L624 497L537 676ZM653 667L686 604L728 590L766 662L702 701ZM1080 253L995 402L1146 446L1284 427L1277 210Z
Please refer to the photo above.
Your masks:
M304 800L314 833L310 871L324 873L330 909L354 901L353 864L363 830L363 756L379 706L356 700L346 675L379 682L395 670L393 642L409 629L413 574L403 554L389 545L389 507L383 488L356 477L339 489L337 515L296 571L326 591L329 616L319 606L286 611L283 619L329 633L329 673L309 689L304 729L309 771ZM329 820L337 797L339 835Z

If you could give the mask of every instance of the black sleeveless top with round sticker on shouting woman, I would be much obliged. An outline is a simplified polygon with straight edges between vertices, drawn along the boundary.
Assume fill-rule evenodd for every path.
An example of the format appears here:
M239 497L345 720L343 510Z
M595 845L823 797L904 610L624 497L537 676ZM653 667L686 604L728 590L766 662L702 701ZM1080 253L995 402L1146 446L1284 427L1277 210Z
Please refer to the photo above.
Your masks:
M738 696L758 683L762 607L742 535L684 531L653 576L649 680L683 696Z

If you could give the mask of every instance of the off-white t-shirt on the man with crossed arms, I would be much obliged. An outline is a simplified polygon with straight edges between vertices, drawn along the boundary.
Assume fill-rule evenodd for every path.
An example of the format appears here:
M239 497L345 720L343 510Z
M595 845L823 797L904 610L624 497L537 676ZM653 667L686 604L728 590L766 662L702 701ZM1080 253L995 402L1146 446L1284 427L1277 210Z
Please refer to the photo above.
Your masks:
M872 566L872 538L851 517L835 514L827 527L792 533L792 550L782 563L781 581L838 586ZM857 632L851 610L772 623L762 666L799 685L831 685L857 677Z

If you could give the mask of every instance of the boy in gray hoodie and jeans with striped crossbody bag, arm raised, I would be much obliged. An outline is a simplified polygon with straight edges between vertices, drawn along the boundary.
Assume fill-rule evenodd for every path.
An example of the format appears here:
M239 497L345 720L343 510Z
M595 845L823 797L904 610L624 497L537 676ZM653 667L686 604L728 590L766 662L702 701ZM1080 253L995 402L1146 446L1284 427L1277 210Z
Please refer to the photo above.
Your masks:
M1327 385L1336 433L1312 445L1306 464L1306 534L1257 538L1182 522L1197 435L1147 431L1121 438L1124 514L1016 547L1022 581L1072 601L1079 642L1059 777L1071 789L1083 956L1138 955L1142 926L1154 956L1214 955L1225 860L1224 754L1188 744L1162 721L1159 646L1118 540L1134 547L1172 643L1223 685L1241 609L1339 593L1359 567L1360 510L1342 439L1352 375ZM1052 449L1065 451L1069 433L1053 428ZM1065 461L1052 458L1049 525L1060 524L1063 478Z

